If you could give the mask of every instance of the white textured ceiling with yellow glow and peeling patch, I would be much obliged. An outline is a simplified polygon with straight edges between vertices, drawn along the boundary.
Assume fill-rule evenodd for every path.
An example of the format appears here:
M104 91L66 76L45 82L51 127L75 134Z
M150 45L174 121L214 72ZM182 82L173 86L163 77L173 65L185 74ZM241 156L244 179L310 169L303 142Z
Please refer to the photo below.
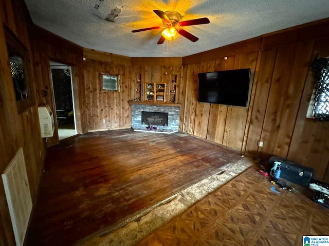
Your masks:
M130 57L183 57L329 17L328 0L25 0L25 3L34 24L82 47ZM131 32L161 26L162 21L153 10L178 11L184 15L182 20L208 17L210 24L184 27L199 38L195 43L179 36L157 45L160 29Z

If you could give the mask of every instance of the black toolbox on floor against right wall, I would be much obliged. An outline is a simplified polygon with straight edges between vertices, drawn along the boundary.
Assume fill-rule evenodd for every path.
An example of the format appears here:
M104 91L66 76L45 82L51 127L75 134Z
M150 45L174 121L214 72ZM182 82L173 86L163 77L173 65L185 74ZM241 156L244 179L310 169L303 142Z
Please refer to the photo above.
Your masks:
M287 159L271 156L268 159L269 166L273 166L275 161L281 162L281 174L280 178L287 179L298 185L307 187L308 183L314 176L314 169L299 165L295 162L289 161Z

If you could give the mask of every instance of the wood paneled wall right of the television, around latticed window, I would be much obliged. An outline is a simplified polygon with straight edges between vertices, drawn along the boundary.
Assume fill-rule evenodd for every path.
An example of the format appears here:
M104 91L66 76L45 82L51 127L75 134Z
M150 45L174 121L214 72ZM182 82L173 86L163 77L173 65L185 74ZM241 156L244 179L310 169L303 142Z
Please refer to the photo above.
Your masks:
M329 182L329 123L306 118L314 88L309 64L318 55L329 55L329 38L322 38L323 21L312 29L309 36L306 25L288 30L285 39L284 32L264 38L267 48L262 51L246 154L288 158L313 167L317 179ZM314 37L317 32L319 39ZM259 140L264 141L262 148Z

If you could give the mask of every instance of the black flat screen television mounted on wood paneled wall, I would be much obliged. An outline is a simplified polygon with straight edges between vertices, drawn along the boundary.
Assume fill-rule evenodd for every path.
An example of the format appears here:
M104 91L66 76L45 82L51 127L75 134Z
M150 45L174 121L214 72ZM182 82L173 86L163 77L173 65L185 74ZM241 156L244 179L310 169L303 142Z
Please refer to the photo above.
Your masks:
M198 74L198 101L246 107L250 68Z

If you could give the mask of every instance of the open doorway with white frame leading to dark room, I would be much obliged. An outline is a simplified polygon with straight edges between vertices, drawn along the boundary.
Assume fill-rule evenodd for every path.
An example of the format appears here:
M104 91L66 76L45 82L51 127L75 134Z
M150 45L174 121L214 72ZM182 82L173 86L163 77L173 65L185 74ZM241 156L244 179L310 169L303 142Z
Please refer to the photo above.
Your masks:
M50 61L59 140L77 135L71 67Z

